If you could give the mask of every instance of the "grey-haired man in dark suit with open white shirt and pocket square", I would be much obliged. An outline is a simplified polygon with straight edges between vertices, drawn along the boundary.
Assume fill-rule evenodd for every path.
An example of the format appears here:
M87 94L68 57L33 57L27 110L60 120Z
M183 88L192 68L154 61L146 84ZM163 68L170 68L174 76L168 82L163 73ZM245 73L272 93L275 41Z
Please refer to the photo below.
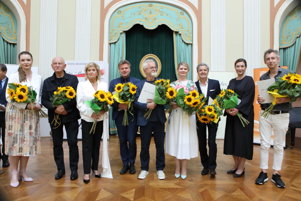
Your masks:
M215 99L216 95L221 92L221 87L218 80L211 80L208 78L209 66L205 63L197 65L197 74L199 80L195 82L199 93L204 94L204 98L208 97L205 105L208 105L209 97ZM202 175L208 174L216 175L216 132L219 123L206 124L197 120L197 137L199 139L199 151L201 157L201 163L203 165ZM209 155L207 154L207 139L206 128L208 127L208 147Z

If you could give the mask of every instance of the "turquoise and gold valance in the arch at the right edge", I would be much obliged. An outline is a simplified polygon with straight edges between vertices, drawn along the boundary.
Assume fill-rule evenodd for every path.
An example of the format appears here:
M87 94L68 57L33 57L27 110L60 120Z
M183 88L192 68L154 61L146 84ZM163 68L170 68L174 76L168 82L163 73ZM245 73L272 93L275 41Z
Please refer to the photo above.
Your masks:
M301 5L296 6L285 18L279 36L279 48L290 47L301 34Z

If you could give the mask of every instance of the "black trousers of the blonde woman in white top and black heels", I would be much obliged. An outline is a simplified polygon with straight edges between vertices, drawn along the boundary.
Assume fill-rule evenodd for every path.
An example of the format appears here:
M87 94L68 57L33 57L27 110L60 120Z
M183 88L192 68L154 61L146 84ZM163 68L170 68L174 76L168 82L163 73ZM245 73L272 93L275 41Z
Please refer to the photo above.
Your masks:
M90 174L92 170L98 170L100 140L103 133L103 121L96 123L95 132L90 133L93 122L82 119L82 162L84 174ZM92 162L92 166L91 166Z

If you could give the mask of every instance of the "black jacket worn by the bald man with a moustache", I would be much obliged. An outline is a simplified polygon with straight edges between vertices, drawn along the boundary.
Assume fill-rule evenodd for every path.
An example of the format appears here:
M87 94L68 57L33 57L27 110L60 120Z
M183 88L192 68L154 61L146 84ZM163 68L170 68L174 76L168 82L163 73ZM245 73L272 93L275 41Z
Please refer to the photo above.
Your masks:
M55 108L52 107L51 102L50 102L50 98L53 95L53 92L55 90L57 90L58 86L72 86L73 89L76 91L77 89L77 84L78 84L78 79L75 75L70 75L67 74L64 71L64 79L62 81L61 85L58 85L55 82L55 73L53 73L53 75L51 77L48 77L47 79L44 80L43 83L43 89L42 89L42 105L45 106L45 108L48 109L48 121L49 123L52 122L52 120L54 119L54 111ZM68 111L67 115L59 115L59 118L61 120L61 123L64 122L70 122L70 121L75 121L80 119L80 115L79 115L79 110L76 107L76 98L71 99L70 102L66 102L63 104L65 110Z

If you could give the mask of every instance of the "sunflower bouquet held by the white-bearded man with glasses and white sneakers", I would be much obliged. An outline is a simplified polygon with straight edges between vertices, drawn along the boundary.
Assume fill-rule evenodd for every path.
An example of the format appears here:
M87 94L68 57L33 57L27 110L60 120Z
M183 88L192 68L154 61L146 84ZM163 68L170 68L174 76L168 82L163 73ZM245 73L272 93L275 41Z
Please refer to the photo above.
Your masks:
M166 105L171 104L175 101L177 92L173 87L170 87L169 80L156 80L154 85L156 85L154 103ZM144 117L146 119L149 119L152 111L152 109L147 109L147 111L144 114ZM166 110L165 112L167 113L169 112L169 110Z

